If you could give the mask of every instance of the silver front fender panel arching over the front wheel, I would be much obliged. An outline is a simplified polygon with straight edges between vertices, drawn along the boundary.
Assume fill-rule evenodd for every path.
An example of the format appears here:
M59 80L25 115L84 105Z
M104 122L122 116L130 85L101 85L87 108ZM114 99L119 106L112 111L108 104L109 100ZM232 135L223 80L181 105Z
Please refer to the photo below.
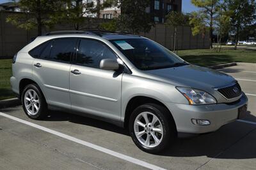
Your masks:
M156 80L149 80L132 74L124 74L122 79L122 115L124 122L125 110L129 101L136 96L150 97L166 103L188 104L188 101L175 86Z

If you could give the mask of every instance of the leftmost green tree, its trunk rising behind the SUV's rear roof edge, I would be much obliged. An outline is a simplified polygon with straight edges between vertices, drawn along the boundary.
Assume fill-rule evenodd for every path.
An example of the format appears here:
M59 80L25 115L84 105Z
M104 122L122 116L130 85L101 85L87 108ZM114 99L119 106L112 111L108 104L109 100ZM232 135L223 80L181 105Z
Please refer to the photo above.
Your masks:
M26 30L37 29L40 36L44 27L51 27L54 24L52 15L60 6L58 3L59 1L49 0L20 0L18 5L24 12L8 16L6 22Z

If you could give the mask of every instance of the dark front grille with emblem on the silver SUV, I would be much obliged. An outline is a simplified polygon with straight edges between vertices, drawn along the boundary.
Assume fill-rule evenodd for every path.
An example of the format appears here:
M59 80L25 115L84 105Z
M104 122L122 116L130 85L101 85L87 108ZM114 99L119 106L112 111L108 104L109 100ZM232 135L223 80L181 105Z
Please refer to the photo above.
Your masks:
M218 89L218 91L225 96L227 99L233 99L235 97L238 97L242 94L241 87L239 83L236 83L235 85L232 85L230 87L225 87L223 89Z

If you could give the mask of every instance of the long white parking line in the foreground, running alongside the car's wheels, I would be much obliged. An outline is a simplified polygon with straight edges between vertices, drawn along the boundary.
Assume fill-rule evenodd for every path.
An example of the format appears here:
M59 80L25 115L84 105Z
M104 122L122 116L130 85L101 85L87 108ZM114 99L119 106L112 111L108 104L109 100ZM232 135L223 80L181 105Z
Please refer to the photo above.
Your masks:
M2 117L10 118L10 119L15 120L17 122L20 122L22 124L26 124L26 125L29 125L31 127L35 127L36 129L40 129L42 131L49 132L49 133L54 134L56 136L60 136L61 138L68 139L69 141L74 141L76 143L79 143L79 144L84 145L84 146L88 146L88 147L93 148L95 150L98 150L100 152L107 153L109 155L112 155L113 157L117 157L119 159L127 160L128 162L132 162L133 164L137 164L137 165L142 166L142 167L147 167L148 169L164 169L162 167L155 166L153 164L149 164L147 162L144 162L143 160L139 160L139 159L135 159L135 158L129 157L129 156L124 155L122 153L118 153L118 152L115 152L113 150L109 150L107 148L103 148L101 146L94 145L93 143L89 143L89 142L83 141L81 139L77 139L77 138L74 138L72 136L69 136L67 134L63 134L61 132L57 132L57 131L48 129L47 127L43 127L41 125L33 124L31 122L28 122L26 120L22 120L22 119L17 118L17 117L12 117L12 116L7 115L7 114L2 113L2 112L0 112L0 115Z

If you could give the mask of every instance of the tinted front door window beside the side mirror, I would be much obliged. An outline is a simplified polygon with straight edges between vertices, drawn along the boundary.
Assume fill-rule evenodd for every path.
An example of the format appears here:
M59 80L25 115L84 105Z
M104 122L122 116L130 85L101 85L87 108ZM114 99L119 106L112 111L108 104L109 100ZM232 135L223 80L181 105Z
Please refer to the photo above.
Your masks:
M99 41L81 39L77 53L77 64L89 67L99 67L102 59L116 59L108 46Z

